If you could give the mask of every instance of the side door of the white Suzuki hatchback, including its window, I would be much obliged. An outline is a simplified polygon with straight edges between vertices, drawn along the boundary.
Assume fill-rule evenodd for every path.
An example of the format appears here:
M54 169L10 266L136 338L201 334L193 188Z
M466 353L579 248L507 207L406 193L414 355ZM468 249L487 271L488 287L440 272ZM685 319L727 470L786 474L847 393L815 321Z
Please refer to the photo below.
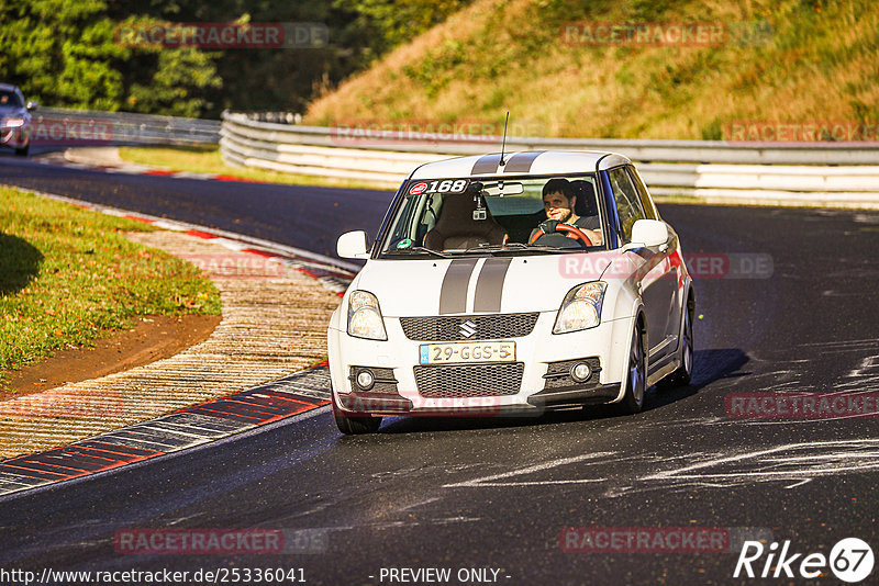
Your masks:
M641 194L626 167L611 169L608 171L608 177L620 218L621 245L626 245L632 241L632 227L635 222L648 219L648 212L645 211ZM649 215L655 218L655 210L650 206ZM667 250L642 248L630 253L638 255L643 260L638 272L639 290L647 317L650 360L654 361L669 354L676 348L674 342L677 340L677 334L669 331L669 313L676 296L677 279L671 270Z

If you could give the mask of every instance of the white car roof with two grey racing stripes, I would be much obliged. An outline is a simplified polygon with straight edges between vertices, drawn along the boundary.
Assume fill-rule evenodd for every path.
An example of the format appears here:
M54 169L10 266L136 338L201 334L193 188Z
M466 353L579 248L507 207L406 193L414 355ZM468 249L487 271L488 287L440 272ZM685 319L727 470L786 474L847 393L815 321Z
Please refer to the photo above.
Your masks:
M632 162L623 155L602 150L523 150L504 153L503 160L501 167L500 153L492 153L429 162L415 169L412 179L585 173L594 172L596 168L607 170Z

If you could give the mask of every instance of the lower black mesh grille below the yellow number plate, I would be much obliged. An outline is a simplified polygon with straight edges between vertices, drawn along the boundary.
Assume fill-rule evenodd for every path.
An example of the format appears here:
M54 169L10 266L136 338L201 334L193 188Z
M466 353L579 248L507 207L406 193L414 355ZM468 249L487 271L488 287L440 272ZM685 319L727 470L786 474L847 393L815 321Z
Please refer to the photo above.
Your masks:
M523 362L414 367L423 397L490 397L515 395L522 386Z

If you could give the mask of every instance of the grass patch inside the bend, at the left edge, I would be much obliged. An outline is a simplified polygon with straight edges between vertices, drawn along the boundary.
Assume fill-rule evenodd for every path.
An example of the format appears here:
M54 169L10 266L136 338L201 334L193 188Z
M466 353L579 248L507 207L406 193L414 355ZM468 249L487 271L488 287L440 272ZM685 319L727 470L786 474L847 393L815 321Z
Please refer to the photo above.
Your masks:
M5 371L136 316L220 314L196 266L123 236L151 226L3 187L0 201L0 391Z

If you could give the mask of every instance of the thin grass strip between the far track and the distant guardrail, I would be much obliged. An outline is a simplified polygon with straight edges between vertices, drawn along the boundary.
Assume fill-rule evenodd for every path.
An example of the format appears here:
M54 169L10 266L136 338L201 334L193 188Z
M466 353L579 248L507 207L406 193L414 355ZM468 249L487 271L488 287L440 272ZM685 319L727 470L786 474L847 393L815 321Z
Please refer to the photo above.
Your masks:
M170 171L215 173L247 181L281 183L289 185L318 185L327 188L382 189L371 183L333 179L310 174L282 173L266 169L230 167L223 162L218 145L180 147L122 147L119 156L126 161Z

